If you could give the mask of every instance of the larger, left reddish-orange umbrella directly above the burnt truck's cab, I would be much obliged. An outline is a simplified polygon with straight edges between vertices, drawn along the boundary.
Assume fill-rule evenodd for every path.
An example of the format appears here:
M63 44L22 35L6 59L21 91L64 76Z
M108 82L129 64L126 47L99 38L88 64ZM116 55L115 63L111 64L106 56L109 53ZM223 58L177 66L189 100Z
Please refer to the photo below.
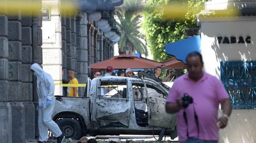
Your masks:
M105 70L107 66L112 66L114 69L126 69L126 68L156 68L161 66L161 63L146 58L138 58L134 55L118 55L107 60L103 60L98 63L90 64L89 68L93 71Z

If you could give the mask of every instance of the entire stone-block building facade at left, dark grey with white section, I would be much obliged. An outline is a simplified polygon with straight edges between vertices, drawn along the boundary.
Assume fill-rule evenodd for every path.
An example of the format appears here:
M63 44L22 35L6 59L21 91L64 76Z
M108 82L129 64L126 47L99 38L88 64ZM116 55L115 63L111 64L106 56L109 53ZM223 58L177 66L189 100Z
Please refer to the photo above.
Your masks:
M104 36L88 11L70 14L60 10L60 0L35 1L49 8L49 20L42 20L40 9L18 9L14 14L6 7L0 14L0 142L25 142L38 136L32 63L42 64L51 74L58 96L62 78L68 79L67 70L75 70L79 83L86 83L89 64L113 57L114 42ZM83 92L81 87L79 94Z

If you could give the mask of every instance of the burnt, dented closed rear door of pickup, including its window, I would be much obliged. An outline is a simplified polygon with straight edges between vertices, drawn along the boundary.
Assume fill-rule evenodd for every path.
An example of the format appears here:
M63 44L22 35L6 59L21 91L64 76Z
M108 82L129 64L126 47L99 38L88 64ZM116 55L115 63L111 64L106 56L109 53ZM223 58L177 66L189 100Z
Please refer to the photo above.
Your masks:
M100 79L97 82L93 127L129 126L131 99L126 79Z

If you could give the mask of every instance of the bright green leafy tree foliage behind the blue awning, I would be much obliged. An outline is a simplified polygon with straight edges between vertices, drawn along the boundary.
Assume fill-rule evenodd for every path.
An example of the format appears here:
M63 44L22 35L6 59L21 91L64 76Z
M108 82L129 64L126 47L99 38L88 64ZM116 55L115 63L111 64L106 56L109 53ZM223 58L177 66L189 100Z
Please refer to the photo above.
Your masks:
M184 30L196 26L195 15L204 0L149 0L143 10L143 29L154 60L171 58L166 44L184 39Z

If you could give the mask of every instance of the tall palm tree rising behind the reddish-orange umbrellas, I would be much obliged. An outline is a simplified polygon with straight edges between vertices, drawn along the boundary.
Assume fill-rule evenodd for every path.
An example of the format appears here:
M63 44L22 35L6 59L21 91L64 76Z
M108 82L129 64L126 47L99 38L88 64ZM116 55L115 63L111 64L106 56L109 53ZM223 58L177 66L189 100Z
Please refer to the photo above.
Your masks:
M119 20L117 26L121 33L118 42L119 54L126 53L126 50L129 50L129 54L134 54L135 50L146 56L148 54L146 45L139 39L141 8L140 0L125 0L124 4L115 11Z

